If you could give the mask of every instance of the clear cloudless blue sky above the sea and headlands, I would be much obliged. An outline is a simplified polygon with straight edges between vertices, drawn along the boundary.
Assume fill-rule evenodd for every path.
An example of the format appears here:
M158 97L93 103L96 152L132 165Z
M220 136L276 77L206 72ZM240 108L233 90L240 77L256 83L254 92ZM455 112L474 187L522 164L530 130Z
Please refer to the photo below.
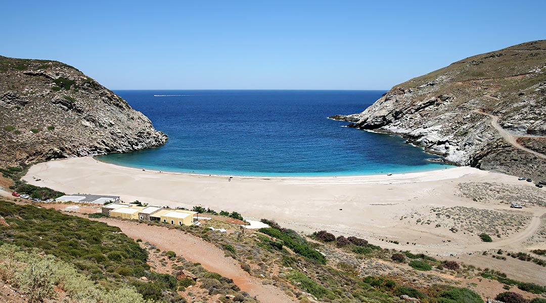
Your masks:
M546 39L546 1L3 1L0 54L110 89L388 89Z

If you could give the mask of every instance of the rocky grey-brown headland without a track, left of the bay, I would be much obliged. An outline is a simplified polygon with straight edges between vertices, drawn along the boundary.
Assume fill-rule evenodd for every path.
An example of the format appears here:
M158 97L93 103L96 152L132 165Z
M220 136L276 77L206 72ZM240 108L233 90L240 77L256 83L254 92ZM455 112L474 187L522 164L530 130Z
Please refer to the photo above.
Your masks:
M0 56L0 166L166 141L144 114L72 66Z

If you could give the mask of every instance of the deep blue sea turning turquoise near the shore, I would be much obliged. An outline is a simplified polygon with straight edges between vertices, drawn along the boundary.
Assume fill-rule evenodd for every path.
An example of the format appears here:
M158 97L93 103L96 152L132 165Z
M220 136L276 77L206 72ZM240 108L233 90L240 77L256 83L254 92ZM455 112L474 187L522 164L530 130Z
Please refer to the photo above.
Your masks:
M100 156L170 172L256 176L406 173L444 168L399 136L328 119L382 90L116 90L169 135L162 147Z

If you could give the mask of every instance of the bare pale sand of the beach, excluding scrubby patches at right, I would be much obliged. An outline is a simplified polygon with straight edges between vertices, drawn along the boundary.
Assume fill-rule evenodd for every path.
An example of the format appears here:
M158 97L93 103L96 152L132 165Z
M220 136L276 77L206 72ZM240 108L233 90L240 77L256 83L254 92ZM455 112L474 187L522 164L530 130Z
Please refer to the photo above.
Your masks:
M456 205L507 210L506 204L484 204L456 196L458 184L487 181L523 185L515 177L470 167L391 176L234 177L228 181L225 176L142 171L92 157L39 163L23 179L67 194L116 195L126 202L138 200L170 207L202 205L275 220L301 232L327 229L336 235L359 235L383 247L438 254L500 247L499 243L481 243L475 236L410 225L400 217L422 208ZM533 231L527 232L531 235ZM400 241L400 245L380 238ZM448 239L452 241L447 243ZM504 244L518 247L525 239L514 238Z

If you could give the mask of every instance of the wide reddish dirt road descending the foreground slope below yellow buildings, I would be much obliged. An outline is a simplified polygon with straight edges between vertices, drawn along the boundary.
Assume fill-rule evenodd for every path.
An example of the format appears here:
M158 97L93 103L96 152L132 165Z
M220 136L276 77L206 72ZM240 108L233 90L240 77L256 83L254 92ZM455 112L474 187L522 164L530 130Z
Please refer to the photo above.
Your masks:
M135 222L120 221L115 219L91 219L104 222L110 226L117 226L128 237L142 239L157 246L161 250L174 251L177 255L191 262L201 263L206 270L233 279L233 282L251 296L256 296L260 302L282 303L294 302L282 290L272 286L263 285L260 280L250 276L241 269L239 262L233 258L224 257L224 252L195 237L185 234L177 229L168 229L161 226L149 226Z

